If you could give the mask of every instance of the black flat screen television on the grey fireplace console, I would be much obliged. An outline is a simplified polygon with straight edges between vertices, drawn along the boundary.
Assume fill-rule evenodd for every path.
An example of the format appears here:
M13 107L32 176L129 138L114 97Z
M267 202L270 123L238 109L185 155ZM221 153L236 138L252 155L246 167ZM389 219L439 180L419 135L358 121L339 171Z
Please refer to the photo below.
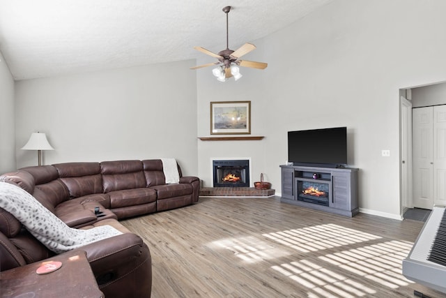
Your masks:
M288 161L294 165L343 167L347 164L347 128L289 131Z

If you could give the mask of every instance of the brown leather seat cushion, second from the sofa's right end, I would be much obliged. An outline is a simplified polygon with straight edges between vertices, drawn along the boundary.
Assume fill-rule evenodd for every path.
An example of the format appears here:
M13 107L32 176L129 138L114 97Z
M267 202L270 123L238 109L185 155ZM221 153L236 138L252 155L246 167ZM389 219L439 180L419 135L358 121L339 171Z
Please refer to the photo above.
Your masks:
M156 201L156 192L151 188L134 188L122 191L112 191L110 196L110 207L120 208Z

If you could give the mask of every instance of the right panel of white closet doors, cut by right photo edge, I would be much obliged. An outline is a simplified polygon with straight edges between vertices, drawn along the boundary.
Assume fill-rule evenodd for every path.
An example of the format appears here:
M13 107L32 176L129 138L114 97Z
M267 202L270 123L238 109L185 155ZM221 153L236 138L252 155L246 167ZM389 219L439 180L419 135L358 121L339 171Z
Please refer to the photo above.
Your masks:
M446 204L446 105L433 107L433 203Z

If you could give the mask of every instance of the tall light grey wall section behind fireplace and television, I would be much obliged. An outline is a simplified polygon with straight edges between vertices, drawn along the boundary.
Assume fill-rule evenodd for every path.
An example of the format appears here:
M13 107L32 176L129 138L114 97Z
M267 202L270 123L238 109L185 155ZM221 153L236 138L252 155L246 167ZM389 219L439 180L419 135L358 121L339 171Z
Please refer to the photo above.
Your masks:
M199 135L208 134L210 101L252 100L252 135L266 138L226 145L254 155L254 177L265 172L280 191L287 131L347 126L348 163L360 168L360 209L401 218L399 89L445 81L445 10L442 0L333 1L254 42L246 59L268 62L266 70L243 68L245 77L224 84L199 75ZM222 152L222 142L213 143L199 143L206 184L208 157Z

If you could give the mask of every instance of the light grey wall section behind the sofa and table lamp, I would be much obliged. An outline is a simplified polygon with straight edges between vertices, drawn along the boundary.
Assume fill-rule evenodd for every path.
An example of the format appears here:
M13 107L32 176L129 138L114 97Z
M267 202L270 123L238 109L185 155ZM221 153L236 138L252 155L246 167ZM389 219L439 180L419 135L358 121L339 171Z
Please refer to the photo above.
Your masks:
M37 164L20 148L47 134L43 163L174 157L197 175L197 82L180 61L16 82L17 167Z

